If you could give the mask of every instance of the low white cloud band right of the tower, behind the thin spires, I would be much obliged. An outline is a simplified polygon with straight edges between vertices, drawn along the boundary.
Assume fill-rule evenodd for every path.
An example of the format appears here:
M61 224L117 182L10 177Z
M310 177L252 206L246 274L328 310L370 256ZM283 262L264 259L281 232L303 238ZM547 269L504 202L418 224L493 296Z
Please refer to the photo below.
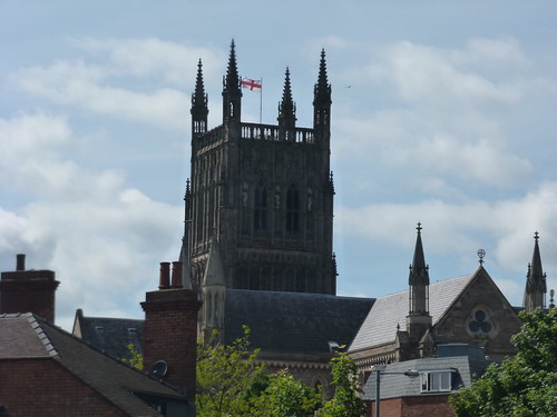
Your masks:
M509 271L526 274L531 257L534 231L540 232L544 267L557 271L557 182L546 182L522 198L499 201L447 203L426 200L416 203L369 205L336 209L335 230L349 239L408 247L408 230L420 220L428 236L428 251L465 255L490 245L490 257ZM401 221L408 219L408 221ZM555 275L555 272L553 272Z

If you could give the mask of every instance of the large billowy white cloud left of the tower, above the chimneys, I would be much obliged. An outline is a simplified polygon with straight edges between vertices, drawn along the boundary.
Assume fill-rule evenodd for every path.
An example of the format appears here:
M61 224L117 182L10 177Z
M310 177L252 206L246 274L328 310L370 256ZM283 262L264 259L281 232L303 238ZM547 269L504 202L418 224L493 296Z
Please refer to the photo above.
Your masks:
M57 272L65 328L78 307L137 316L145 290L156 288L158 262L178 257L183 209L127 187L114 170L65 159L78 145L62 118L1 119L0 137L2 187L26 201L0 207L2 254L26 252L32 268ZM2 262L12 268L12 259Z

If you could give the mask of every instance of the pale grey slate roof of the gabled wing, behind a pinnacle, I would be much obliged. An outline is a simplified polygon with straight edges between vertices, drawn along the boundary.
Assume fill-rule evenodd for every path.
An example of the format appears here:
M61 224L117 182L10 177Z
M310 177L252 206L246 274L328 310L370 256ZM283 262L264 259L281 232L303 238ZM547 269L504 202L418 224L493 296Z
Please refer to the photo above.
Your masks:
M473 276L446 279L429 286L429 314L433 325L443 316ZM393 342L397 326L400 325L401 330L407 329L408 302L408 290L378 298L350 346L350 351Z

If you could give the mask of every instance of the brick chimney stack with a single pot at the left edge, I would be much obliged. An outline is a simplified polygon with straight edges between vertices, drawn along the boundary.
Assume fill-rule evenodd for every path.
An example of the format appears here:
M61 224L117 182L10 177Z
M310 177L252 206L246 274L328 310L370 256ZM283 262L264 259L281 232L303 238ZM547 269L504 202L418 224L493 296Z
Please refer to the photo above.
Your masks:
M55 322L55 292L59 285L51 270L26 270L26 256L18 254L16 270L1 274L0 314L33 312Z

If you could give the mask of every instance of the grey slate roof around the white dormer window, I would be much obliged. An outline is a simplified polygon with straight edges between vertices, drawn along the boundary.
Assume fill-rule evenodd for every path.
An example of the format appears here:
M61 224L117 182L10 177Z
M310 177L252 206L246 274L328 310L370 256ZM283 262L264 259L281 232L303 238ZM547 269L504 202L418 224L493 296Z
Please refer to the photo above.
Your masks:
M381 371L400 373L381 376L380 393L381 399L448 395L457 393L461 387L470 387L472 379L481 376L486 368L491 364L489 360L476 359L468 356L453 356L447 358L427 358L413 359L402 363L381 366ZM452 379L451 391L421 393L420 377L408 377L404 371L412 369L418 371L456 369L456 376ZM363 387L362 399L375 399L375 374L372 373Z

